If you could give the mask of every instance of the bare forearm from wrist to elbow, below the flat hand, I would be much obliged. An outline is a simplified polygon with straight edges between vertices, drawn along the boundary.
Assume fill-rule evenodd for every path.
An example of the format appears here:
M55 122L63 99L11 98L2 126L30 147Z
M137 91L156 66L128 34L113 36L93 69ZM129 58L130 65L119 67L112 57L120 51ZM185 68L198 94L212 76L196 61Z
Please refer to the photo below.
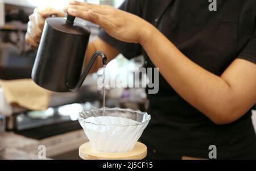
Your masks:
M175 91L208 118L218 122L231 111L232 88L222 77L189 60L156 29L142 41L142 46Z

